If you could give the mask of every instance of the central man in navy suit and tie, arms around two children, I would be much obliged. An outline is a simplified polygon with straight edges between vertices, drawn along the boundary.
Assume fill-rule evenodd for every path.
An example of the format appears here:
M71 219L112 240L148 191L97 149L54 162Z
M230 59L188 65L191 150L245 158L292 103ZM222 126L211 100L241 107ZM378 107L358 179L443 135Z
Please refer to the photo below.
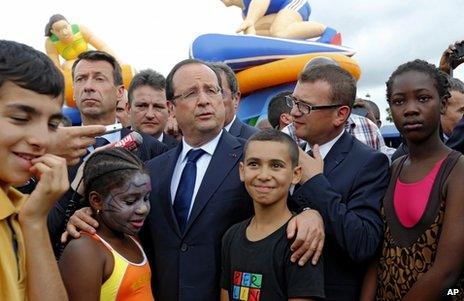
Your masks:
M140 233L156 300L218 300L222 235L252 214L238 173L244 140L223 130L220 83L217 72L197 60L178 63L167 77L166 96L183 139L147 164L152 208ZM193 183L186 181L192 165ZM306 252L303 261L312 254L306 222L313 214L292 220L301 246L297 257ZM319 245L323 238L316 236Z

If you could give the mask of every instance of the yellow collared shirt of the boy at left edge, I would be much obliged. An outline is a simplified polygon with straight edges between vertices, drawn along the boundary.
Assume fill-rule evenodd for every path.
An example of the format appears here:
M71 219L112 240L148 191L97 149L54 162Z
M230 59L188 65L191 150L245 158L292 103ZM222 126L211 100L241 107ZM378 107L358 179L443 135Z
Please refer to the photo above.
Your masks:
M26 300L26 251L18 212L26 196L0 189L0 300Z

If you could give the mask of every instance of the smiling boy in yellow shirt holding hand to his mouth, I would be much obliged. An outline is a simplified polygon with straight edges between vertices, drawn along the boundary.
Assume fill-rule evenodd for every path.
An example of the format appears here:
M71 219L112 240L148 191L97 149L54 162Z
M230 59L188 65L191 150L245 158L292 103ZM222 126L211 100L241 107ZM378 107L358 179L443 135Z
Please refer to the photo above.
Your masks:
M0 40L0 300L67 300L47 214L68 189L66 160L50 154L64 81L43 53ZM12 185L35 176L29 195Z

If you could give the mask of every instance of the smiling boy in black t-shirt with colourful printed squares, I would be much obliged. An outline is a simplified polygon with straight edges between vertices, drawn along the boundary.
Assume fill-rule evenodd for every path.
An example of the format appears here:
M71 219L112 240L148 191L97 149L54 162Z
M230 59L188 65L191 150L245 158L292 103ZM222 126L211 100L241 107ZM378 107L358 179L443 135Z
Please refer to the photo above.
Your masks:
M290 261L287 197L301 176L298 146L270 129L251 136L243 152L240 179L253 198L255 216L224 235L221 301L324 298L321 261L303 267Z

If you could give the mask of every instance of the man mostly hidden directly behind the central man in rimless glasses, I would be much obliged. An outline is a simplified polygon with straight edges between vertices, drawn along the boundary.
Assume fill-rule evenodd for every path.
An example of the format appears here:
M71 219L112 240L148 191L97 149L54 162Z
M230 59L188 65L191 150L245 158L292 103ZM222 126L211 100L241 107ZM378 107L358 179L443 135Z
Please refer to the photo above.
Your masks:
M249 126L237 118L236 112L240 102L240 90L235 73L229 66L223 63L212 63L211 66L221 76L222 95L225 107L224 128L235 137L248 139L259 131L258 128Z

